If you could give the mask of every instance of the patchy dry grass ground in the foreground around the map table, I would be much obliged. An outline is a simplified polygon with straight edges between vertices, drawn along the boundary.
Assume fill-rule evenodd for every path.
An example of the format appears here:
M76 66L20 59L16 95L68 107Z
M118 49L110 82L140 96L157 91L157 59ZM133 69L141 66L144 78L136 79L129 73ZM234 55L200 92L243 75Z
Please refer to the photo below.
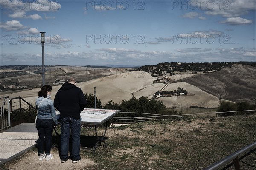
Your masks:
M94 154L90 146L94 144L91 140L95 135L94 129L83 128L81 130L83 160L76 164L80 164L80 167L74 169L201 170L255 142L255 122L256 114L253 114L197 119L172 118L111 127L106 134L108 147L100 146ZM99 133L100 131L99 128ZM53 136L55 139L56 137ZM57 156L58 148L55 147L52 152ZM26 156L28 156L26 159L37 159L35 154L31 153L36 153L36 150L24 153L0 168L22 169L26 167L27 162L20 159ZM30 155L34 157L30 158ZM30 166L33 167L33 164L37 162L30 163ZM60 161L49 161L48 164L52 169L63 167ZM242 170L254 169L256 152L242 159L240 165Z

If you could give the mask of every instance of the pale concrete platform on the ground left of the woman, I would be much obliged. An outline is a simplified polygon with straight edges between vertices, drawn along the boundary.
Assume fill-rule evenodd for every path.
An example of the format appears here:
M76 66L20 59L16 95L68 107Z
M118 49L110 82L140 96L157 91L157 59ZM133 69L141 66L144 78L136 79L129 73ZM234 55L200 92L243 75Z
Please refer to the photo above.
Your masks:
M34 147L38 132L34 123L21 123L0 133L0 164Z

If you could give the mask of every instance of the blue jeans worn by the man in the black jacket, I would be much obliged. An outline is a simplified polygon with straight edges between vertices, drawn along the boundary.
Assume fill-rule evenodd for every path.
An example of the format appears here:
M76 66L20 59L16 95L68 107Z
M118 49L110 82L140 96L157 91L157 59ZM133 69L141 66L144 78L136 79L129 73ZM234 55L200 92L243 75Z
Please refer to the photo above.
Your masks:
M71 117L61 119L61 159L68 159L70 129L72 136L72 147L70 159L76 160L80 156L80 133L81 121Z

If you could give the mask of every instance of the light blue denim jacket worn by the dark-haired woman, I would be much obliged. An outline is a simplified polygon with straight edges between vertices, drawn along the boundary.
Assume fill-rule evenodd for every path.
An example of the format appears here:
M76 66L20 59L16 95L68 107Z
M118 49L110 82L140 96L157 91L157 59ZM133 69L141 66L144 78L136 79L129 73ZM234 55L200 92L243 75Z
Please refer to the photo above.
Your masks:
M44 101L42 102L42 100ZM36 108L38 108L39 106L38 114L37 114L38 119L52 119L53 122L58 125L56 111L55 111L55 108L53 107L53 101L51 99L38 97L36 99L35 105L36 105Z

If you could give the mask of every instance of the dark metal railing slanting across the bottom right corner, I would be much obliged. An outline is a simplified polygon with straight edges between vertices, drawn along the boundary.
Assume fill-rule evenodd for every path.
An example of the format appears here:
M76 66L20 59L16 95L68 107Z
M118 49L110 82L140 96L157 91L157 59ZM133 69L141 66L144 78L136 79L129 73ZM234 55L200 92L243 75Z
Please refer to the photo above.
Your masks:
M224 165L228 164L232 160L233 162L231 164L228 164L226 167L222 168L221 170L226 170L227 168L233 165L235 167L235 170L240 170L239 161L244 157L248 156L250 153L253 153L255 150L256 150L256 142L253 142L252 144L249 144L248 146L242 148L241 150L235 153L232 153L231 155L225 157L224 159L221 159L220 161L216 162L215 164L212 164L211 166L207 167L204 170L217 170L218 168L223 167ZM242 154L244 155L241 156ZM239 158L239 156L241 157Z

